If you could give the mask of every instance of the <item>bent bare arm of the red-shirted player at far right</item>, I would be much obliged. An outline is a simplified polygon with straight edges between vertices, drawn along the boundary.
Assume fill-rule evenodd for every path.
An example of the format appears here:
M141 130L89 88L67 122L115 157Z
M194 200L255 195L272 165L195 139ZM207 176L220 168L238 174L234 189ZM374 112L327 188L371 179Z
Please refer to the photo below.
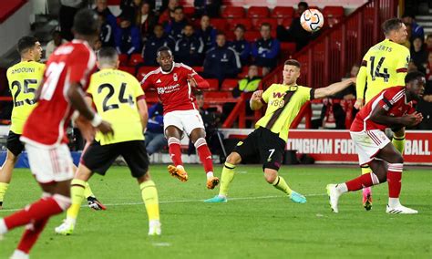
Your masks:
M423 116L418 112L407 114L402 117L389 116L387 115L387 110L383 106L377 105L375 109L372 110L370 119L381 125L388 125L392 127L402 125L411 127L420 123L423 119Z

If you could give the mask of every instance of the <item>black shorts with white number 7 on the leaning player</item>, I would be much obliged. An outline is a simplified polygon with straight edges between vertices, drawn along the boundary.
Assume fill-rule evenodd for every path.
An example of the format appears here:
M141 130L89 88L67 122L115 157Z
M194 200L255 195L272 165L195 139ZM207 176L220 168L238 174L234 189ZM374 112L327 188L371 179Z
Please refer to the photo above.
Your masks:
M286 143L279 138L279 134L260 127L237 143L233 151L239 153L242 160L259 153L262 170L269 168L278 171L283 162L285 146Z

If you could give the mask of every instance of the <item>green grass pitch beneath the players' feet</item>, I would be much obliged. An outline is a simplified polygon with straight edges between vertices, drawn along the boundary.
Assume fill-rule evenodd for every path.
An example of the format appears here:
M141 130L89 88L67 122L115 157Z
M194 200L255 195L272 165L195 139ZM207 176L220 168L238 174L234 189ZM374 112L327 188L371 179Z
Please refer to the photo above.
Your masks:
M307 203L296 204L273 189L261 166L239 166L227 203L202 202L217 191L205 187L201 166L187 165L190 180L170 177L165 165L151 165L158 186L162 236L148 237L139 187L126 167L114 167L90 184L105 212L82 208L75 233L59 236L52 218L32 258L432 258L432 171L407 169L401 202L417 215L386 214L387 184L374 188L374 207L365 212L361 192L342 197L339 214L330 211L325 185L354 178L355 167L283 166L281 175ZM216 169L221 175L221 167ZM27 170L15 170L5 210L22 208L40 196ZM8 258L23 228L0 242Z

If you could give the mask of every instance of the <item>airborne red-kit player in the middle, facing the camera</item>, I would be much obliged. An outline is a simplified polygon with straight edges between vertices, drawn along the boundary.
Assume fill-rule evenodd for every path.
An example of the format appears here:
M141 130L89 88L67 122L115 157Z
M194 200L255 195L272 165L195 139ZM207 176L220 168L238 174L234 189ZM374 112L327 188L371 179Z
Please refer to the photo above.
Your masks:
M183 131L195 145L200 161L207 173L207 188L213 189L219 179L213 176L211 152L205 140L204 123L195 104L193 88L209 88L209 83L192 68L175 63L169 47L159 47L157 60L160 67L142 79L144 90L155 88L163 105L163 124L174 165L168 171L180 181L188 181L188 173L181 161L180 139Z

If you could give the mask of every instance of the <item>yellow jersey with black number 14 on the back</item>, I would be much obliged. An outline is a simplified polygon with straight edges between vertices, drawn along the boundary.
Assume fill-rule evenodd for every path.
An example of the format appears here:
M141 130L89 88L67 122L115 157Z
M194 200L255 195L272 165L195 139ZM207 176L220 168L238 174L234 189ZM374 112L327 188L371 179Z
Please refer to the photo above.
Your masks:
M367 103L386 88L405 86L409 60L409 49L389 39L369 48L357 75L357 98Z

